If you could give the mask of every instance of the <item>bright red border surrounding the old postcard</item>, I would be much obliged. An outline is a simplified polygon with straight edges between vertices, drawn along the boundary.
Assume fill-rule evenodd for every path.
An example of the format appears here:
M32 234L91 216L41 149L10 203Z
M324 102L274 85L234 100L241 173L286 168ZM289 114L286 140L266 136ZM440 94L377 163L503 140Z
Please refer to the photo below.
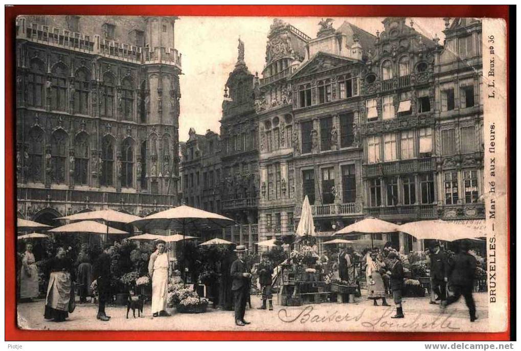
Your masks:
M283 14L283 16L281 15ZM503 18L510 37L509 8L507 5L19 5L5 7L5 340L6 341L168 341L168 340L320 340L320 341L507 341L511 340L511 322L502 333L392 333L392 332L215 332L215 331L28 331L16 325L15 277L15 34L18 15L140 15L140 16L317 16L317 17L492 17ZM507 40L508 52L508 40ZM507 84L510 68L507 55ZM509 91L510 92L510 91ZM510 97L507 97L510 116ZM507 127L511 127L507 118ZM510 142L510 133L508 142ZM507 144L509 145L509 144ZM510 154L510 148L507 148ZM507 157L510 169L510 158ZM510 185L510 172L508 172ZM509 186L510 189L510 186ZM510 203L509 203L510 209ZM510 213L509 229L510 229ZM510 239L510 238L509 238ZM510 240L508 242L510 258ZM510 265L508 265L510 277ZM508 279L508 308L511 306L510 279Z

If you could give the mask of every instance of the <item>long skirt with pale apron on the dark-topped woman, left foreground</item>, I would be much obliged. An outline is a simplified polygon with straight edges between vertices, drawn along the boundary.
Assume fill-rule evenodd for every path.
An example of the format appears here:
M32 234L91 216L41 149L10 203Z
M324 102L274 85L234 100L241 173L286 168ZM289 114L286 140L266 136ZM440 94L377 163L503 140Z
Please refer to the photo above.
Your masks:
M68 272L52 272L45 297L45 319L65 319L69 317L71 280Z

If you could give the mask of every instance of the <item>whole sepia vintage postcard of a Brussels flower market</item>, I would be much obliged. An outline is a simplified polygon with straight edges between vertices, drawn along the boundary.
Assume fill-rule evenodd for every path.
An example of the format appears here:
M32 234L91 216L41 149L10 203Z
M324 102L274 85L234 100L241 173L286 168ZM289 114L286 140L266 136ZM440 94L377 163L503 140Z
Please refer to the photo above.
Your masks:
M504 20L15 33L18 328L506 330Z

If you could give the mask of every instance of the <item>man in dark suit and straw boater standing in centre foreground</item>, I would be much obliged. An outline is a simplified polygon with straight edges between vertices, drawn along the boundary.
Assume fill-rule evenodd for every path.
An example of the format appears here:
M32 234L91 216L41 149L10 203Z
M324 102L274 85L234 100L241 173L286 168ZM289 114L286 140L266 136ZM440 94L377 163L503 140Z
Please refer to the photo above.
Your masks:
M237 253L237 259L231 264L230 275L233 278L231 290L235 304L235 324L244 327L244 325L250 324L250 322L244 320L244 312L246 310L247 296L250 293L252 274L244 261L246 246L237 245L234 251Z

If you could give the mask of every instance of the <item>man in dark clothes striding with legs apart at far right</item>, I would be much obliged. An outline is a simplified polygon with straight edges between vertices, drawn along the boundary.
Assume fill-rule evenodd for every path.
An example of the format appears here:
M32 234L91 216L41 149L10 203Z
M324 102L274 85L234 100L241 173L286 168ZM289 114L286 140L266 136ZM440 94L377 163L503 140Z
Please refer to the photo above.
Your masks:
M470 321L474 322L477 317L472 288L474 286L477 261L474 256L468 253L469 249L469 243L467 241L462 242L460 244L460 252L452 258L450 263L449 284L452 287L454 295L449 296L446 301L441 303L441 306L446 307L453 304L463 295L465 304L468 307Z

